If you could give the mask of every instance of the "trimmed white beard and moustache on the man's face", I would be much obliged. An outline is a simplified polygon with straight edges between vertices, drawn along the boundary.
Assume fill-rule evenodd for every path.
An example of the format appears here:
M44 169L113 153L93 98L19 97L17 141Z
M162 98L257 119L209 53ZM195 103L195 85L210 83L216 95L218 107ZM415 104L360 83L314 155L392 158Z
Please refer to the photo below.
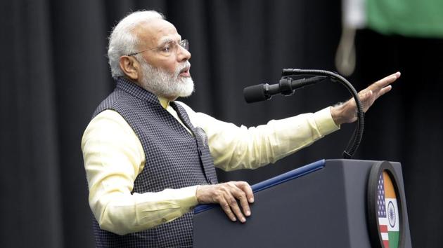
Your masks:
M140 78L141 87L159 97L176 99L177 97L188 97L194 91L194 82L189 77L179 76L180 71L186 67L191 67L191 63L186 61L176 68L174 74L170 74L164 69L152 67L143 57L139 60L143 77Z

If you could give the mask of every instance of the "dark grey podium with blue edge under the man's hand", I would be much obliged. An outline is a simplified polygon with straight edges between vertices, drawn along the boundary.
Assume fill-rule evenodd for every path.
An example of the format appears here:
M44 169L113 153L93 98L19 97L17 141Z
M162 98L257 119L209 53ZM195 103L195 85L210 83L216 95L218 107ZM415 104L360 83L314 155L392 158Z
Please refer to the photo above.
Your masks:
M199 205L194 209L193 246L377 247L370 234L373 221L368 221L368 179L375 163L319 160L255 184L246 223L230 221L218 205ZM402 168L390 164L403 195L399 247L411 247Z

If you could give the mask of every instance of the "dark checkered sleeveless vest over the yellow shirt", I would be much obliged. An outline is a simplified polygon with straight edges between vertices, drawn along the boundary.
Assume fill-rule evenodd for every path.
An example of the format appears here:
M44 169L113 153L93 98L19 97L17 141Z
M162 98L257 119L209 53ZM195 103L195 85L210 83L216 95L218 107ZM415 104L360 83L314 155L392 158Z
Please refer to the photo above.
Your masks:
M113 109L139 137L146 164L134 181L136 193L158 192L198 184L217 184L214 163L201 128L194 128L182 106L170 103L191 135L164 109L158 97L124 78L96 109L93 118ZM94 219L97 247L192 247L193 211L179 219L139 233L116 235L101 230ZM165 220L166 221L166 220Z

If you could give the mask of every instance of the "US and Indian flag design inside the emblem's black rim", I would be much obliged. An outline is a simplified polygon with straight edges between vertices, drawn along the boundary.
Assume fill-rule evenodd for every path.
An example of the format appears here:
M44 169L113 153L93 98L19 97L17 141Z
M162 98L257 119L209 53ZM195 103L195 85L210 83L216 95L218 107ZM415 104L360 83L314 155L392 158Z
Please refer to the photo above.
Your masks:
M399 207L394 185L389 174L383 171L378 177L377 186L378 228L383 247L399 247Z

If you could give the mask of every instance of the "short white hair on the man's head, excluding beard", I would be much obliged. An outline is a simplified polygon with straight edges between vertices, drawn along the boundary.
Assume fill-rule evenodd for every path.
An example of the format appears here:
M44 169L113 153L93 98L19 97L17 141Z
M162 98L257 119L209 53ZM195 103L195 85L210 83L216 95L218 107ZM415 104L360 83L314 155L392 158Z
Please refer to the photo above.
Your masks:
M134 28L153 19L165 20L165 16L157 11L136 11L115 25L109 36L108 46L108 60L113 78L124 76L122 69L120 69L120 57L137 52L136 47L139 40L132 32Z

